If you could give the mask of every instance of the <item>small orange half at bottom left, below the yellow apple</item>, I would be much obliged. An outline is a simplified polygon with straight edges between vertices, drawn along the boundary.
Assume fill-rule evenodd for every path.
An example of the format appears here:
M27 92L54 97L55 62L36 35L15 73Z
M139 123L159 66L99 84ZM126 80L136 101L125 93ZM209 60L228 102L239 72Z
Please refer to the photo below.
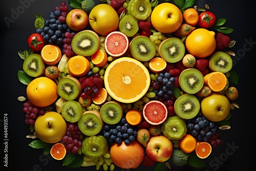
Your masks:
M66 153L65 145L60 142L55 143L50 150L51 156L56 160L62 160L66 156Z

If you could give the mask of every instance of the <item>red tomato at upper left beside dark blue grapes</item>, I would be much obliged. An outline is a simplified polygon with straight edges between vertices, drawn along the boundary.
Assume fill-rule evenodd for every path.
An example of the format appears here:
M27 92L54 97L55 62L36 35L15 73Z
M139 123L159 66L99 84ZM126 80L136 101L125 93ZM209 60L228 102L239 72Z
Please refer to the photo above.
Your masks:
M44 38L38 33L33 33L28 38L28 46L34 52L38 52L45 46Z

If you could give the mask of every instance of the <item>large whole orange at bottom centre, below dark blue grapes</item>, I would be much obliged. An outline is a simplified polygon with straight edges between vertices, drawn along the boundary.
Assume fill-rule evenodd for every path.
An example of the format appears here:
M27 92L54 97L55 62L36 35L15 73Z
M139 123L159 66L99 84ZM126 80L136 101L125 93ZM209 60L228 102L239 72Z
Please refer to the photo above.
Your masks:
M121 168L137 168L144 158L144 148L134 140L129 145L124 141L119 144L112 144L110 147L110 156L113 163Z

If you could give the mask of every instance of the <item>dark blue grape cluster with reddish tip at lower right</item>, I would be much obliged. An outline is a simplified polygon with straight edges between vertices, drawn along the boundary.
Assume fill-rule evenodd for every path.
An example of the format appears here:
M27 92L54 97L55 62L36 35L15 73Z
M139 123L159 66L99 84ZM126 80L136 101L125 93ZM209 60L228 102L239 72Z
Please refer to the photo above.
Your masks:
M222 142L219 139L218 125L208 121L204 116L187 119L186 124L188 133L197 141L210 142L215 147Z

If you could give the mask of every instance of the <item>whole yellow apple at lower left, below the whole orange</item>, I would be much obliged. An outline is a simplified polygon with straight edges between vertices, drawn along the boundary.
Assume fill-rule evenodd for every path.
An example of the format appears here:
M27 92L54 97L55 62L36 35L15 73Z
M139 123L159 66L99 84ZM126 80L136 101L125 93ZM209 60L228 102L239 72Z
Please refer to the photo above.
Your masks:
M66 135L67 123L57 112L46 112L39 115L34 124L36 136L46 143L56 143Z

